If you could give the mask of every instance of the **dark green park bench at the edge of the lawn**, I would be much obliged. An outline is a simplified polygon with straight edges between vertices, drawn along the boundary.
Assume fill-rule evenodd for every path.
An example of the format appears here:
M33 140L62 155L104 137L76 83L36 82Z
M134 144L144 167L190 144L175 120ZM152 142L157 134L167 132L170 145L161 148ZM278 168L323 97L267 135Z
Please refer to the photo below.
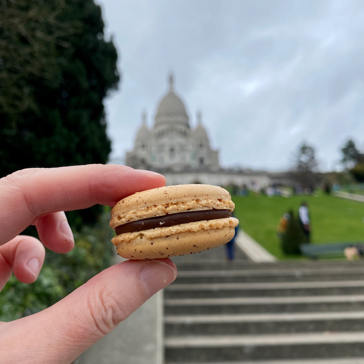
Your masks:
M343 257L345 248L358 244L363 245L363 242L355 241L329 244L301 244L300 250L303 256L311 259L318 259L319 257Z

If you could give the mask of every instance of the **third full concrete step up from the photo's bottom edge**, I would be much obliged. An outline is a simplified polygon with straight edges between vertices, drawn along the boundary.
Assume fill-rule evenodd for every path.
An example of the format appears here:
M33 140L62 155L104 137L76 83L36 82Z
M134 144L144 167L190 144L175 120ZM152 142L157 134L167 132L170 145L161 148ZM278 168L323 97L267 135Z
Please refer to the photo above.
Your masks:
M330 312L364 310L364 294L298 297L165 299L165 314ZM364 362L363 362L364 363Z

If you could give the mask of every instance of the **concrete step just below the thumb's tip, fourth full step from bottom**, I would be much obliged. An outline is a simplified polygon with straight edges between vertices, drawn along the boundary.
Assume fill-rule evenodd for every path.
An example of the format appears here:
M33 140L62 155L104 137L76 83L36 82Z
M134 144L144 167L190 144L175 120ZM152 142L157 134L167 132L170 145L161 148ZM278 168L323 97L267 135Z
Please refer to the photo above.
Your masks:
M364 280L171 284L165 298L278 297L364 294Z

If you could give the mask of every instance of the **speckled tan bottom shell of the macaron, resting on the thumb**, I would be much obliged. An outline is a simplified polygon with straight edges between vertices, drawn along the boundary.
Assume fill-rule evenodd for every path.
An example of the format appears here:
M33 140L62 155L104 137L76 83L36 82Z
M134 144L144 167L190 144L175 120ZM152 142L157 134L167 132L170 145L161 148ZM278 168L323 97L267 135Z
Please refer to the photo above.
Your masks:
M112 238L112 242L123 258L142 260L200 253L226 244L234 237L234 234L234 227L229 226L154 238L141 235L128 242L124 241L123 234L120 234Z

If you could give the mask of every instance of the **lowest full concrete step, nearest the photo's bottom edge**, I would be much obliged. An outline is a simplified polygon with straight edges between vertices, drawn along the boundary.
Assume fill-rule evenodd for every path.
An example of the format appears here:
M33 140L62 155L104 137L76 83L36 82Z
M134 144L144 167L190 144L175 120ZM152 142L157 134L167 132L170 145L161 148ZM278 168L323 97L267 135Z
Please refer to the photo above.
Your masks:
M165 339L166 363L364 357L364 332L182 336ZM283 364L284 362L282 362ZM332 361L331 361L332 363Z

